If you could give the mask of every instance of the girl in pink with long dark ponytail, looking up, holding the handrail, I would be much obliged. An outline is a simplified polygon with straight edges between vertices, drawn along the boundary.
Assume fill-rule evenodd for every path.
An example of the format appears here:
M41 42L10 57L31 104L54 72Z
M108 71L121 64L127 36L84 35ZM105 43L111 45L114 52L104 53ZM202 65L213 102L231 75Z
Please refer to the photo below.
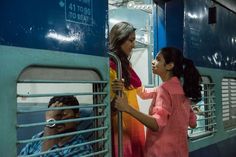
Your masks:
M152 62L152 71L163 83L153 89L139 90L141 98L152 99L149 115L133 108L125 95L117 97L115 107L147 127L146 157L188 157L188 126L196 127L191 101L201 99L200 74L193 62L174 47L160 50ZM113 83L114 90L117 86L118 83Z

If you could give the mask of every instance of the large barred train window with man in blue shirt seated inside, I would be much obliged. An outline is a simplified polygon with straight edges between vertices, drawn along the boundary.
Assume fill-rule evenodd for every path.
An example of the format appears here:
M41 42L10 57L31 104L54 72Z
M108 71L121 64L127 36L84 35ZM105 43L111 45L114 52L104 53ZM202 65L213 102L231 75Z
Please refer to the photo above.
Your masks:
M17 82L18 155L105 156L109 125L106 85L93 70L24 70ZM53 107L48 107L50 100Z

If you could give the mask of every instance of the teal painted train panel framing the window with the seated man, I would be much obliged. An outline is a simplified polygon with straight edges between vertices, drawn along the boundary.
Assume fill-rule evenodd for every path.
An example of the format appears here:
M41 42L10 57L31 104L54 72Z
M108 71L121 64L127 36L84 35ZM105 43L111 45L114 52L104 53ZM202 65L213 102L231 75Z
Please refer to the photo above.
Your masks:
M13 157L17 154L17 79L24 69L30 66L63 67L90 69L96 71L101 80L109 79L109 58L100 56L89 56L84 54L63 53L51 50L38 50L14 46L0 45L0 152L4 157ZM15 64L17 63L17 64ZM109 92L109 86L106 87ZM109 104L109 96L104 100ZM106 107L106 115L110 114L110 106ZM110 126L110 116L107 117L105 125ZM106 147L111 150L111 133L107 129L108 141ZM106 154L111 156L111 151Z

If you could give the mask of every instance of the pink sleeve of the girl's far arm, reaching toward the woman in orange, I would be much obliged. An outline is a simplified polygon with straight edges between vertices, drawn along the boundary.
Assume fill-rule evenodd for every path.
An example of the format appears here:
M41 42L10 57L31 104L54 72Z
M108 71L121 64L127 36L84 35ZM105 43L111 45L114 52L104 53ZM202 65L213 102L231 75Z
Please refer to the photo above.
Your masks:
M142 99L152 99L156 95L156 88L145 88L141 86L137 88L137 94Z

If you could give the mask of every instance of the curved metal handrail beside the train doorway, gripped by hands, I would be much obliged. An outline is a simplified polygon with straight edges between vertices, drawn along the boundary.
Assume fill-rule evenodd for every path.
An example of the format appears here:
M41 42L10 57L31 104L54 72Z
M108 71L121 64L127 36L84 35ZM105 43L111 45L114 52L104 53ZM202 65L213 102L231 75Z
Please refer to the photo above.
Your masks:
M108 53L110 57L116 62L117 78L122 79L122 68L120 59L113 53ZM118 96L122 96L122 91L118 91ZM118 111L118 157L123 157L123 125L122 125L122 112Z

